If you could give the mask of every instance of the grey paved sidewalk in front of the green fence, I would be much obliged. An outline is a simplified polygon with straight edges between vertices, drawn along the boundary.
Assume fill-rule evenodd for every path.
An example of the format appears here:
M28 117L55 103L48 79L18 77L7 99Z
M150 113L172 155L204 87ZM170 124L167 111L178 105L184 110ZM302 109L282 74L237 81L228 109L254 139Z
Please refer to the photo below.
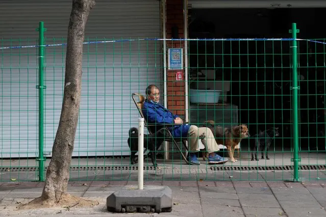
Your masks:
M69 182L72 195L98 200L94 207L17 210L41 195L44 183L5 182L0 185L0 215L112 215L106 198L136 181ZM326 182L266 181L145 181L145 185L168 185L172 189L172 212L115 213L116 216L326 216Z

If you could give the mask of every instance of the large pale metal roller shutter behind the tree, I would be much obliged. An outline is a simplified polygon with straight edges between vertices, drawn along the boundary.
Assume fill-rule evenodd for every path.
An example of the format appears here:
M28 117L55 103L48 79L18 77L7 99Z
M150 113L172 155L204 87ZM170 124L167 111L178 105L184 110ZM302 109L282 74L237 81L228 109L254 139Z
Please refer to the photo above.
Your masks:
M39 21L47 28L46 44L66 43L70 11L71 1L67 0L1 1L0 46L37 44ZM159 38L160 31L160 1L97 0L88 18L85 41ZM144 94L152 83L162 89L160 44L128 41L84 45L82 101L73 156L129 155L128 130L137 126L139 117L131 93ZM66 46L45 49L44 144L49 155L62 106L65 52ZM35 157L37 48L0 50L0 69L0 152L2 157Z

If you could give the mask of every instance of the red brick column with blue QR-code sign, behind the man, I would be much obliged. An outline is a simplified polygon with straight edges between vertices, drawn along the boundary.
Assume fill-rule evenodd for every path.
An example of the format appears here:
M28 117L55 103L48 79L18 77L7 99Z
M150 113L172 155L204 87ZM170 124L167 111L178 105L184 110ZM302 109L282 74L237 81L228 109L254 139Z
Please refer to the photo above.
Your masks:
M184 38L183 0L166 0L166 38L172 38L172 27L178 26L179 37ZM167 41L166 48L184 48L183 41ZM183 50L183 53L185 51ZM183 60L185 59L185 55ZM166 58L168 61L168 58ZM184 64L184 62L183 62ZM168 63L166 63L168 66ZM183 65L184 66L184 65ZM180 70L178 70L180 71ZM185 115L185 82L176 81L177 70L167 70L167 108L173 114ZM184 74L184 70L182 70ZM185 76L183 76L185 77Z

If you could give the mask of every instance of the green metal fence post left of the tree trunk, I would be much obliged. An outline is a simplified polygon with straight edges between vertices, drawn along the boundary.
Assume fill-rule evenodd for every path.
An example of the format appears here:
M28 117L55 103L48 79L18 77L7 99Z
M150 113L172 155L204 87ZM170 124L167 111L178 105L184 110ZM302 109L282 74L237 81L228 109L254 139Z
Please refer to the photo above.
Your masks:
M46 88L44 86L44 78L43 78L43 61L44 61L44 32L46 29L44 29L44 22L40 21L39 22L39 28L36 29L36 31L39 32L39 49L38 49L38 58L39 58L39 85L36 86L37 89L39 89L39 108L38 108L38 144L39 144L39 151L38 151L38 180L39 181L44 181L44 153L43 153L43 146L44 146L44 137L43 137L43 126L44 126L44 100L43 100L43 90Z

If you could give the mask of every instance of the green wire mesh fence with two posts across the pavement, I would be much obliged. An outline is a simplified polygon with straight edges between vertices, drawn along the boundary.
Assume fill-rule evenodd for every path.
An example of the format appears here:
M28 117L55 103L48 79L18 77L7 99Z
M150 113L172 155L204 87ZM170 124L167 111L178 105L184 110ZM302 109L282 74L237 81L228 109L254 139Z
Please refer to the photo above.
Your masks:
M1 181L42 181L51 159L62 106L66 39L45 32L42 40L42 29L41 22L41 40L0 42ZM296 39L295 24L291 31L286 39L187 40L188 86L175 82L175 74L163 64L161 39L85 38L71 180L137 180L127 140L140 115L131 94L145 95L150 84L160 88L162 104L166 97L178 110L185 104L183 87L188 87L190 124L246 124L250 137L236 149L237 162L216 166L208 165L200 152L199 166L185 164L171 143L169 159L164 159L162 145L158 167L144 157L145 181L325 179L325 40ZM185 40L167 42L168 48L178 48ZM205 89L219 90L219 102L194 102L191 93ZM200 96L207 102L207 95ZM250 143L271 127L279 135L271 142L269 159L264 149L264 159L256 151L259 161L252 161ZM223 148L218 154L229 157Z

